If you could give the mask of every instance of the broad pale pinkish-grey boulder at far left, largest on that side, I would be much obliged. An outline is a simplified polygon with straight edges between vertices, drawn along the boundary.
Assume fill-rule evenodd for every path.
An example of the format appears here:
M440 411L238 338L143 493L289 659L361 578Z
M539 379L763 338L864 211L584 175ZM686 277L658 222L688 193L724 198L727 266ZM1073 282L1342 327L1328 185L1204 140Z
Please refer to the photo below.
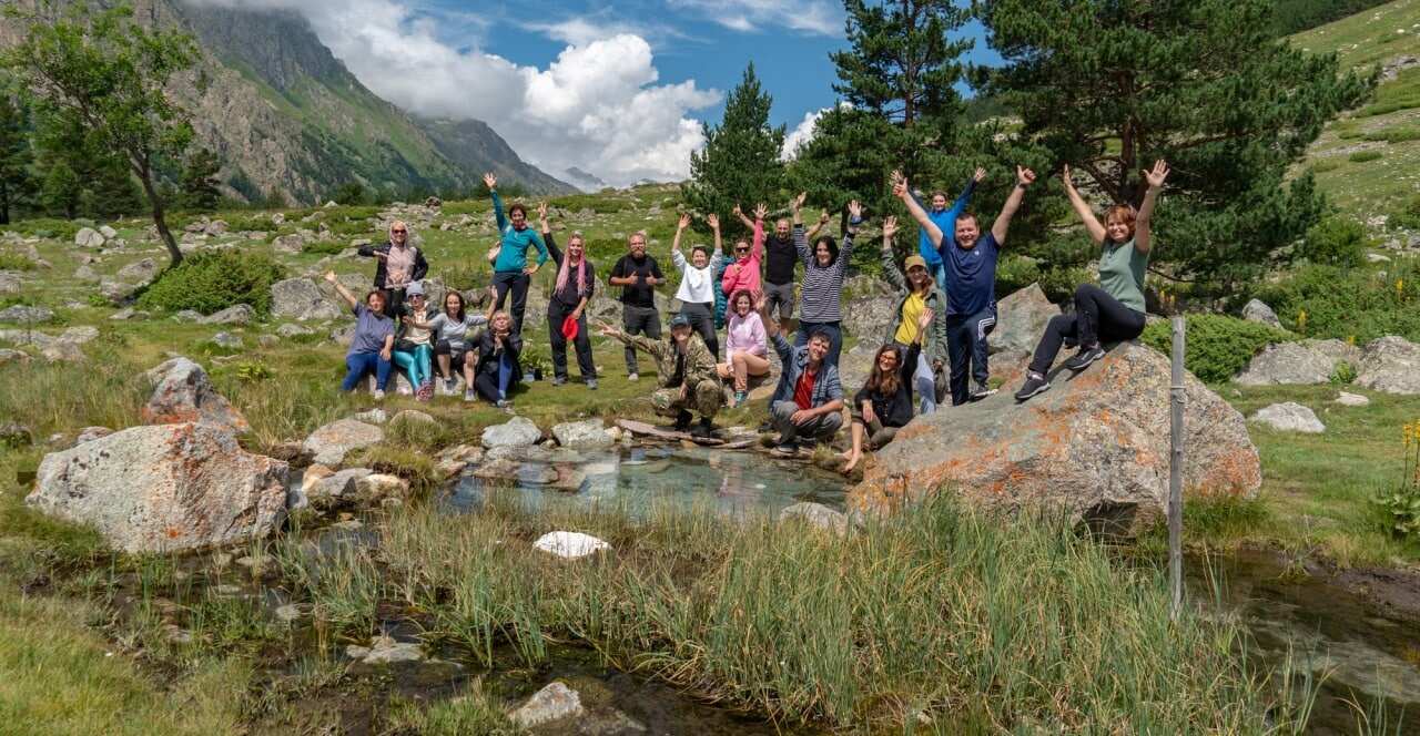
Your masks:
M115 549L175 552L261 537L285 518L287 465L207 424L132 427L51 452L26 502Z

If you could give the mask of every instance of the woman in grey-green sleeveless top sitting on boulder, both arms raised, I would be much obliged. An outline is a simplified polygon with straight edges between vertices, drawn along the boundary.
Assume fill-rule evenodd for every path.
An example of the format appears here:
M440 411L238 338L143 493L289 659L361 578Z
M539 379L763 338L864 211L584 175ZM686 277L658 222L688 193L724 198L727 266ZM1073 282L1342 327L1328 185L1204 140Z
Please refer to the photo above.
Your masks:
M1051 381L1045 374L1066 338L1079 342L1079 352L1065 360L1065 367L1081 372L1105 357L1102 342L1132 340L1145 330L1145 272L1153 247L1150 220L1169 179L1169 165L1160 159L1152 170L1143 172L1143 177L1149 189L1139 210L1116 204L1105 211L1105 223L1100 224L1089 203L1075 190L1069 166L1065 167L1062 179L1071 207L1085 223L1091 240L1100 247L1099 286L1081 284L1075 288L1075 313L1051 318L1035 346L1025 384L1015 391L1017 401L1049 390Z

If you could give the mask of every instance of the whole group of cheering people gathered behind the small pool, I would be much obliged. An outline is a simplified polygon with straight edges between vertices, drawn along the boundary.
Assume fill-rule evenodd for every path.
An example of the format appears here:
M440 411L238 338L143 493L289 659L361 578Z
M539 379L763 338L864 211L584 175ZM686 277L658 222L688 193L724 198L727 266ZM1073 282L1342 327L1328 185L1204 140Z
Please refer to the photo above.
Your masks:
M1064 364L1083 370L1103 357L1103 343L1137 338L1145 326L1145 271L1150 250L1150 217L1167 179L1164 162L1143 172L1147 191L1137 210L1119 204L1108 208L1103 223L1075 190L1069 169L1062 179L1069 201L1086 231L1100 247L1099 285L1076 288L1072 313L1051 319L1035 349L1024 386L1015 393L1025 401L1049 389L1048 372L1064 343L1079 352ZM852 417L851 447L842 452L845 472L868 450L890 442L914 416L946 403L953 406L985 398L990 386L987 336L997 322L995 271L1011 220L1027 190L1032 170L1017 167L1011 190L990 230L983 231L967 207L984 179L977 169L949 207L944 193L929 203L913 194L902 173L893 172L892 191L919 225L917 252L900 264L893 252L899 233L896 217L882 221L882 267L886 281L900 294L896 319L876 350L863 386L846 403ZM521 380L523 318L528 285L547 261L557 267L547 319L552 352L554 384L568 381L567 347L572 343L581 377L596 389L596 366L586 322L596 272L586 258L585 238L572 231L564 252L554 241L547 206L538 207L540 227L528 210L513 204L504 213L497 179L484 176L493 197L500 231L488 251L493 284L484 313L466 313L463 296L449 291L437 313L425 303L420 279L427 274L423 254L409 244L408 225L392 223L389 242L364 247L361 255L376 258L375 284L361 302L334 274L327 278L349 302L356 318L346 356L349 373L344 389L352 390L373 373L376 397L386 390L395 367L405 372L419 398L435 389L435 369L447 390L464 380L464 398L477 397L507 407L510 390ZM829 217L822 213L811 228L802 221L805 196L790 203L790 217L765 230L768 208L758 204L734 216L750 231L723 248L720 218L706 214L710 244L682 250L693 218L682 214L672 241L672 265L679 271L674 298L679 311L662 333L656 289L669 279L646 250L646 234L632 233L626 254L611 268L606 284L621 289L622 323L601 322L598 332L625 345L626 374L640 379L638 353L656 366L650 394L657 414L674 420L680 431L710 435L714 417L728 403L743 404L754 384L770 380L774 349L781 366L770 398L770 425L778 433L775 452L794 455L805 442L831 440L843 423L843 387L838 374L842 350L843 279L853 240L863 224L858 201L846 206L841 238L822 233ZM528 254L537 260L530 262ZM795 275L802 267L802 275ZM797 295L795 295L797 291ZM511 296L511 306L504 303ZM798 322L794 309L798 306ZM721 350L720 328L724 329ZM785 336L794 332L794 342ZM868 338L868 336L862 336ZM730 393L727 398L726 393ZM699 417L699 423L696 423Z

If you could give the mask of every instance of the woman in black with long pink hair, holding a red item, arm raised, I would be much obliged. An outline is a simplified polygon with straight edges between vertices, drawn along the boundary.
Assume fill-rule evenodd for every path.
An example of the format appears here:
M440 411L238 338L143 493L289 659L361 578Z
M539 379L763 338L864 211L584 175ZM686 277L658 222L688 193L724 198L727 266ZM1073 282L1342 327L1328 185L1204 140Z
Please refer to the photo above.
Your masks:
M596 363L592 362L592 339L586 333L586 302L596 288L596 269L586 260L586 238L579 230L574 230L567 238L564 255L552 240L552 224L547 218L545 201L538 204L537 214L542 221L542 240L552 254L552 262L557 264L557 282L547 299L547 333L552 342L552 386L567 383L567 340L572 340L577 349L577 369L582 373L586 389L595 391Z

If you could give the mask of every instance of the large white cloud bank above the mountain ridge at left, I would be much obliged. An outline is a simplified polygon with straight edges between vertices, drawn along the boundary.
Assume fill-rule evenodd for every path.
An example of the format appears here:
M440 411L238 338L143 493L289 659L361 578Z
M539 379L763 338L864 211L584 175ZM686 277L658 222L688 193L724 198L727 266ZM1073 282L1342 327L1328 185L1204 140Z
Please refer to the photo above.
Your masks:
M599 35L592 21L542 27L569 45L540 69L446 44L437 18L402 0L204 1L298 10L376 95L419 115L481 119L554 176L575 166L613 186L684 179L704 142L689 113L721 98L694 81L657 84L642 35Z

